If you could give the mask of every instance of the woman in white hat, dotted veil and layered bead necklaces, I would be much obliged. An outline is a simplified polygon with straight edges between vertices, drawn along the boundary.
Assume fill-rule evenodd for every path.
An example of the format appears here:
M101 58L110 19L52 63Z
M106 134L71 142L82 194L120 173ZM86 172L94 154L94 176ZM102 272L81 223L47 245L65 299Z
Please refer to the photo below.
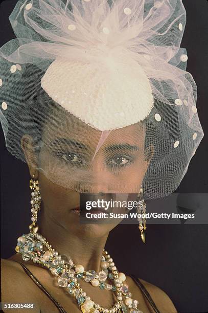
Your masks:
M203 131L179 48L185 13L181 1L17 3L18 39L1 50L1 122L9 151L29 167L32 223L2 260L2 302L37 312L176 311L103 251L122 218L79 216L80 194L138 194L145 213L144 198L173 192L186 173Z

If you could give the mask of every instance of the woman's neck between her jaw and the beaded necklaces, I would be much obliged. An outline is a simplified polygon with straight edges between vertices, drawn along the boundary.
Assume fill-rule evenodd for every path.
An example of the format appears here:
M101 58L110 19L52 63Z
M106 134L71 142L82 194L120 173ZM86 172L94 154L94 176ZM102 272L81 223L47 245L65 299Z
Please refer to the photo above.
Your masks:
M70 256L73 263L81 264L86 270L101 271L100 262L108 234L99 238L85 237L63 228L49 216L41 214L38 233L45 237L58 254Z

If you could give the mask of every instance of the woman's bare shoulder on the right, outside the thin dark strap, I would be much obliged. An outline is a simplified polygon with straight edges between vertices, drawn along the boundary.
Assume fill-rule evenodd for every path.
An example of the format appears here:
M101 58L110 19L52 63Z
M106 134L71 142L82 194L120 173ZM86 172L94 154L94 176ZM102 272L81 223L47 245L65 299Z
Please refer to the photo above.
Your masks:
M152 297L154 303L156 304L158 310L161 313L176 313L177 312L170 297L162 289L160 289L159 287L141 278L140 278L140 281L147 289L148 293Z

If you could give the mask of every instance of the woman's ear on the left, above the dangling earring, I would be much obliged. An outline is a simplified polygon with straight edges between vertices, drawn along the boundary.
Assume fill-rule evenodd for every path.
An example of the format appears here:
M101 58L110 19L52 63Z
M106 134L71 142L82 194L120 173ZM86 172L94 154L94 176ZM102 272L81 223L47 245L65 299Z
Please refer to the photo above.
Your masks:
M21 138L21 148L25 154L25 159L29 167L31 177L38 177L38 154L35 152L35 144L33 138L25 134Z

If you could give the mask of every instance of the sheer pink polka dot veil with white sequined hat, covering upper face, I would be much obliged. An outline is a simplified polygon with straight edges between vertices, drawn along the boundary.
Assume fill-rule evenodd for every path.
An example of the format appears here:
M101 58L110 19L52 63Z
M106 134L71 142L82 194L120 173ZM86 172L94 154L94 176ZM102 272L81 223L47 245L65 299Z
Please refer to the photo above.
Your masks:
M0 118L10 153L77 192L175 191L203 137L181 0L20 0L9 19Z

